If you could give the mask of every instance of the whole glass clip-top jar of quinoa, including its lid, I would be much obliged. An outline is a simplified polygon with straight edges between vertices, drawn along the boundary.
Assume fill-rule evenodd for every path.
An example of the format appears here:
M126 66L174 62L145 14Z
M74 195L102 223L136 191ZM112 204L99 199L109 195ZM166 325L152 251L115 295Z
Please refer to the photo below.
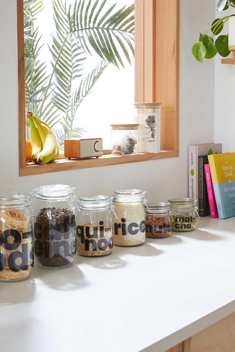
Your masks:
M80 256L102 257L112 252L113 231L109 196L80 197L76 201L77 252Z

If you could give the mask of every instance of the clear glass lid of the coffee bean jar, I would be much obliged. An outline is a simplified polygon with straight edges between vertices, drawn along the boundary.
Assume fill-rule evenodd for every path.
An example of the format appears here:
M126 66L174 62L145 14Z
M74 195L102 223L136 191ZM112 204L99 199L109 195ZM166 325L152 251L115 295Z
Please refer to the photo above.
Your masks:
M42 200L73 200L74 187L68 186L67 184L48 184L40 186L37 189L33 189L31 196Z

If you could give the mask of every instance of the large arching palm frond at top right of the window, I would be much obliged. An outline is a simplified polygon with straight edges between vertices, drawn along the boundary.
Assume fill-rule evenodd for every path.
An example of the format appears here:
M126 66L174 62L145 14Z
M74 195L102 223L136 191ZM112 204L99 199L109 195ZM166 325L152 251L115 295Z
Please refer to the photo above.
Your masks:
M120 55L123 52L131 64L128 51L134 55L134 4L116 12L113 12L116 4L105 10L106 0L100 6L98 0L92 8L90 4L91 1L85 7L84 1L76 1L70 13L70 29L79 46L88 54L96 52L118 68L119 64L124 67Z

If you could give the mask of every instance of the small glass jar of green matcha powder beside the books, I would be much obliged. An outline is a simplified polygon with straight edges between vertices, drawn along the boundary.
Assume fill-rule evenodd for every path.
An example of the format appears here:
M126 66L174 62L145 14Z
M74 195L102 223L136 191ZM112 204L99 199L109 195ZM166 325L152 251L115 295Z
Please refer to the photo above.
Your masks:
M196 227L197 207L192 198L169 199L172 231L193 231Z

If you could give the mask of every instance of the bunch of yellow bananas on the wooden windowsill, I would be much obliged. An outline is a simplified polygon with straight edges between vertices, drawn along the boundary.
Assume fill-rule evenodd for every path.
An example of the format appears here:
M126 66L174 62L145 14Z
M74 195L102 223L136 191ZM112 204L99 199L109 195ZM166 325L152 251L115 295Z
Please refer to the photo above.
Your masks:
M31 125L32 161L37 164L55 161L59 156L59 148L50 127L31 111L28 111L26 116Z

